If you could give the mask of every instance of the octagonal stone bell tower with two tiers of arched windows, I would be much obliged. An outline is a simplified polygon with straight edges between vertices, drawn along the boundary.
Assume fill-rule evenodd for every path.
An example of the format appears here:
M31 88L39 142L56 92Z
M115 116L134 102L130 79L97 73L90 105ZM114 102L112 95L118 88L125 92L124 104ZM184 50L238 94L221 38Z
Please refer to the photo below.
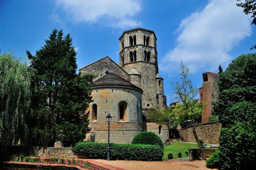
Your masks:
M120 41L120 67L130 75L130 82L143 90L142 109L152 104L166 106L163 78L158 74L158 53L154 31L135 28L124 31Z

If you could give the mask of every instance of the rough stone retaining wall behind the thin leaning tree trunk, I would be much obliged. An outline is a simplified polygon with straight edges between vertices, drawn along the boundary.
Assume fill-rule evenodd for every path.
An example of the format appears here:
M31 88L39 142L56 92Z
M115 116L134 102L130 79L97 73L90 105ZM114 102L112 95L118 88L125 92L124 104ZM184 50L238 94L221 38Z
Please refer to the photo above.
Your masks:
M204 143L219 144L218 139L221 133L221 123L219 121L203 123L197 125L195 130L197 132L198 139L202 139ZM181 129L183 133L187 133L189 142L197 142L193 134L193 127Z

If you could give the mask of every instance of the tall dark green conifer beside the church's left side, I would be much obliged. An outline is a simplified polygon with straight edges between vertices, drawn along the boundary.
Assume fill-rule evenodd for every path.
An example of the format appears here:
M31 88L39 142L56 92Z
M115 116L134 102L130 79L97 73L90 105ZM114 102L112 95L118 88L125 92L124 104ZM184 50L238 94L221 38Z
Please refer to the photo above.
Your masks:
M85 138L88 113L92 101L94 75L76 74L76 51L70 34L54 29L45 45L32 56L32 68L37 70L33 91L33 132L39 135L39 145L53 146L61 141L69 147Z

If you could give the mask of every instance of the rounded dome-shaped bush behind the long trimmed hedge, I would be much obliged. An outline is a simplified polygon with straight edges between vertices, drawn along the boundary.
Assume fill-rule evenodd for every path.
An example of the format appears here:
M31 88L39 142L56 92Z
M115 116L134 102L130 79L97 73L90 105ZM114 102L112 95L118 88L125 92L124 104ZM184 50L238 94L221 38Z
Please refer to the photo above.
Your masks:
M152 144L152 145L158 145L163 149L162 140L154 132L143 131L137 134L134 137L134 139L132 139L132 144Z

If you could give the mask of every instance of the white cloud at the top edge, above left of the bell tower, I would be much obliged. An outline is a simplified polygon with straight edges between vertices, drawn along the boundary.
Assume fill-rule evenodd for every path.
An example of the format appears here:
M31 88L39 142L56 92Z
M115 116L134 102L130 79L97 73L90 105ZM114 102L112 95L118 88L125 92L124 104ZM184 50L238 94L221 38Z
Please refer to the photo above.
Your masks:
M56 6L74 22L93 24L100 22L108 27L134 27L132 17L142 10L135 0L56 0Z

